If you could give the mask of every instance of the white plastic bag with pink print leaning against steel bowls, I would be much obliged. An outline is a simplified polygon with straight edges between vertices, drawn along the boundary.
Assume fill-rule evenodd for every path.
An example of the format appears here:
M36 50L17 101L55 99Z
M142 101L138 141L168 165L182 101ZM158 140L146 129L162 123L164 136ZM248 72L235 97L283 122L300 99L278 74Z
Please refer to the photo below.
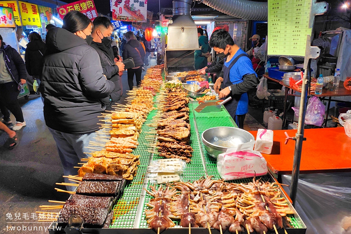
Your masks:
M260 152L254 151L255 141L229 148L217 157L217 170L224 180L237 180L267 174L267 162Z

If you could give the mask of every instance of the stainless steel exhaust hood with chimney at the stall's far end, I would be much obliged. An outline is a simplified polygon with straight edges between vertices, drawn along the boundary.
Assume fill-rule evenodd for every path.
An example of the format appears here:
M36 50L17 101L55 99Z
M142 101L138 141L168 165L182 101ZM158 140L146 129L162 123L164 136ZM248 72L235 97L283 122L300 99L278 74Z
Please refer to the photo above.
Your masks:
M197 26L190 15L191 3L192 0L173 1L172 24L168 25L167 33L166 71L168 67L193 67L194 51L200 50Z

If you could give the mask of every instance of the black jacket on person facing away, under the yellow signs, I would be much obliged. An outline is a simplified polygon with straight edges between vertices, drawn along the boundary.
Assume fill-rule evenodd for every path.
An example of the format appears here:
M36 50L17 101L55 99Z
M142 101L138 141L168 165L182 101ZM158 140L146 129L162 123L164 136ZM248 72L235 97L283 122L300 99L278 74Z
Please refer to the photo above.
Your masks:
M46 45L43 41L31 41L27 44L25 60L29 76L41 75L45 51Z

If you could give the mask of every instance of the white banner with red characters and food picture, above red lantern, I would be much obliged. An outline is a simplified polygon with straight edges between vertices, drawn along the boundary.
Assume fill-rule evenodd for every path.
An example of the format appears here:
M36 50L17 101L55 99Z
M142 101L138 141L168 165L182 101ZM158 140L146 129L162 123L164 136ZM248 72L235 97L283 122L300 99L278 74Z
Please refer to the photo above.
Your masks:
M111 0L112 19L146 22L147 0Z

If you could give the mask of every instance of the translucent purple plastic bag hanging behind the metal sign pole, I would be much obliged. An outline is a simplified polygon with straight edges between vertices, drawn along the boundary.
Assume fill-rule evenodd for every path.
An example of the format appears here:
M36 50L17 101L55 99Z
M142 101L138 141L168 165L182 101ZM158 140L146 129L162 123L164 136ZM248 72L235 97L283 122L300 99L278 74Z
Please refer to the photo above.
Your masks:
M292 107L295 116L299 117L300 108ZM325 105L318 97L313 96L309 99L306 109L305 124L322 126L324 122Z

